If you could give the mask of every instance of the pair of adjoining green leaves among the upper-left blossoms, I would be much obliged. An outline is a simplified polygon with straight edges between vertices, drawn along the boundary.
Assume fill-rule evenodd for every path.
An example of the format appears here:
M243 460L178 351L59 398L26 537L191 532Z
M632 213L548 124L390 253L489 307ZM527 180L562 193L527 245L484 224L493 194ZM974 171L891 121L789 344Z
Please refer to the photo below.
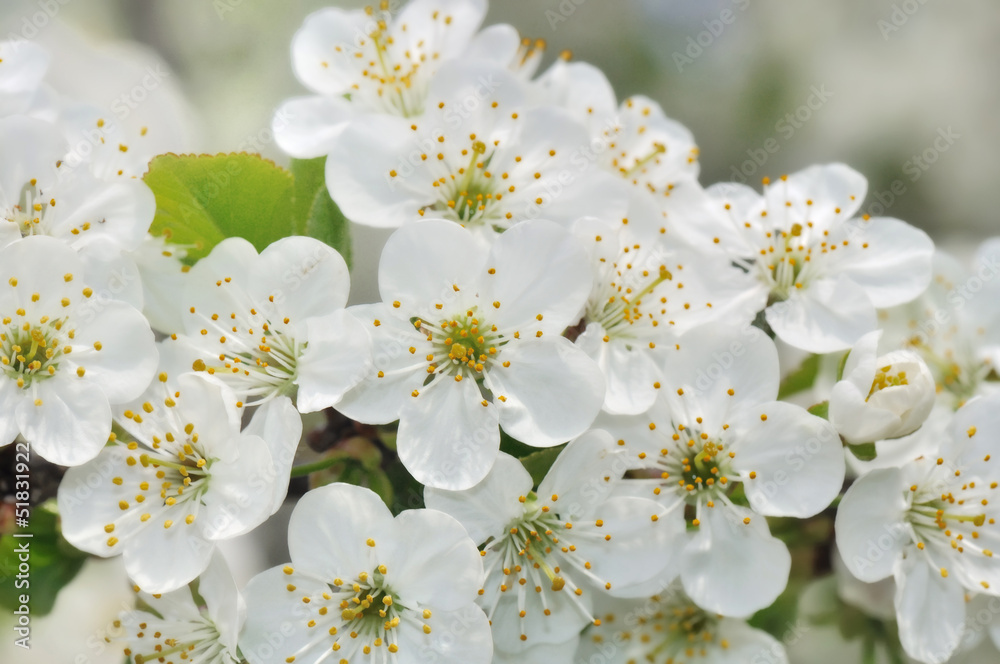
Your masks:
M347 220L326 192L322 161L286 171L256 154L160 155L144 178L156 196L150 232L187 248L190 264L227 237L259 252L290 235L321 240L350 264Z

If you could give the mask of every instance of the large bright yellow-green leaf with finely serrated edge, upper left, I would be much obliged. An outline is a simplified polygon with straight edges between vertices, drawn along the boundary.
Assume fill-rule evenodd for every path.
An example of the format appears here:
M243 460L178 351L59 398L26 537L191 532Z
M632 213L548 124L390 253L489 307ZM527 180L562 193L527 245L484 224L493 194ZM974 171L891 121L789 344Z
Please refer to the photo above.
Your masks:
M143 180L156 196L150 232L187 247L189 263L227 237L259 252L295 232L292 175L260 155L164 154Z

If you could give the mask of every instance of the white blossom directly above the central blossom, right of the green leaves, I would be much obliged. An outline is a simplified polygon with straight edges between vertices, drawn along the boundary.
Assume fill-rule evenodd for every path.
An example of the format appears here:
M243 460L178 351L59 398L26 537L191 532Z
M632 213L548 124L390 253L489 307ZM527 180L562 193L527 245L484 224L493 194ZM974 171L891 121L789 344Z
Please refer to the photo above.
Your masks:
M628 187L583 157L584 127L527 106L514 75L452 63L428 100L419 118L359 119L331 141L327 186L352 221L393 227L426 215L489 239L525 219L625 217Z

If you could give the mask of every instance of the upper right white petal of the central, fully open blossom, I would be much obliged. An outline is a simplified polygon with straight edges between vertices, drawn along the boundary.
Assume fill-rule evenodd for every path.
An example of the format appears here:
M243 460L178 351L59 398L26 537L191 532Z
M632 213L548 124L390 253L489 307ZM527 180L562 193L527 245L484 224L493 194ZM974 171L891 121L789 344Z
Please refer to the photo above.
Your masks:
M493 244L487 263L496 270L480 291L482 300L494 303L489 320L522 334L560 334L575 323L594 281L583 245L546 221L515 225Z

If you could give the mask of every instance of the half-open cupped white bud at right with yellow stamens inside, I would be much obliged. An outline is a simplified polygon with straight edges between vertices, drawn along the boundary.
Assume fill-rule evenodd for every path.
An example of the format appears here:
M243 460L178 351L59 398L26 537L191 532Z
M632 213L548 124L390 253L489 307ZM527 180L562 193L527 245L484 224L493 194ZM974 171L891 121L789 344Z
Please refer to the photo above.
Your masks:
M830 395L830 422L851 444L913 433L934 407L937 389L927 365L913 351L879 355L881 337L876 330L854 344Z

